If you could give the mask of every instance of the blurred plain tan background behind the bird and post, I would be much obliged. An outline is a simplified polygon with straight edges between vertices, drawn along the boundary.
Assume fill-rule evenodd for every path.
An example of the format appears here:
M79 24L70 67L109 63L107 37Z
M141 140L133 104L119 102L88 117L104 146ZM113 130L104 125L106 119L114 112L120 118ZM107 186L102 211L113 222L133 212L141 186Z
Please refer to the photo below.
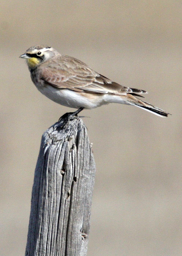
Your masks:
M0 4L0 255L25 253L41 135L71 111L38 92L18 58L37 44L147 90L172 114L119 104L81 113L97 167L87 255L182 255L182 2Z

